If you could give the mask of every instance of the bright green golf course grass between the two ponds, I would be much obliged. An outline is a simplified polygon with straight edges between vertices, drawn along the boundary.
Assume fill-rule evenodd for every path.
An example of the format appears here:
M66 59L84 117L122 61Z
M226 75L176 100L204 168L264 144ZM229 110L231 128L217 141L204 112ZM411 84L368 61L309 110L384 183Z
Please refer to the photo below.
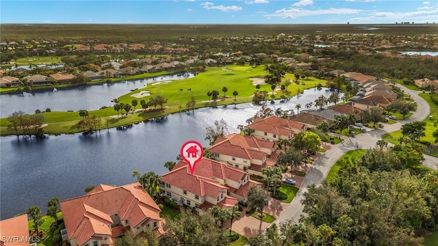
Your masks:
M231 65L227 66L227 70L231 70L231 72L229 72L222 70L221 67L209 67L207 68L207 72L201 72L194 78L172 81L171 83L159 85L149 85L148 87L143 88L142 90L149 90L151 92L151 96L162 95L165 98L168 98L168 102L164 105L164 109L162 111L155 111L152 113L137 111L127 116L124 115L123 117L115 118L114 116L117 115L117 112L110 107L107 109L89 111L89 115L96 115L101 118L101 128L106 128L107 126L110 128L115 126L123 126L125 124L132 124L150 118L155 118L160 115L177 113L180 111L179 106L185 109L185 103L188 102L192 96L196 98L195 108L209 107L209 97L207 96L207 92L211 90L218 90L220 92L219 95L223 96L224 93L222 92L222 87L227 87L228 89L228 92L226 93L227 98L218 100L218 102L216 102L217 105L233 104L233 91L238 92L238 96L236 98L237 103L250 102L252 101L252 95L256 90L255 85L253 85L252 81L250 81L250 78L262 78L266 74L266 71L263 69L264 66L257 66L253 68L251 66ZM286 74L283 81L289 77L292 78L293 74ZM135 77L131 77L131 79L133 78ZM127 78L123 79L126 80ZM326 81L309 77L309 79L305 79L305 85L296 85L295 83L292 83L292 85L289 85L288 87L288 96L294 96L298 90L315 87L318 83L325 84ZM188 90L189 87L191 90ZM183 88L182 92L179 91L180 88ZM260 90L267 90L270 92L269 96L272 94L270 85L261 85ZM133 99L138 100L138 102L140 102L142 99L149 101L151 96L145 96L143 98L134 98L131 96L132 94L136 94L140 91L141 90L136 90L135 92L130 92L129 94L120 96L118 100L120 102L129 104L131 104ZM276 91L274 97L281 98L281 94L281 91ZM108 106L112 106L112 103L108 102ZM140 109L140 106L137 106L136 109ZM81 132L81 129L77 127L79 120L81 120L81 118L79 117L79 113L77 111L53 111L50 113L44 113L43 123L49 124L48 126L44 127L44 131L50 134L78 133ZM0 135L10 134L7 129L8 124L9 122L7 119L0 119Z

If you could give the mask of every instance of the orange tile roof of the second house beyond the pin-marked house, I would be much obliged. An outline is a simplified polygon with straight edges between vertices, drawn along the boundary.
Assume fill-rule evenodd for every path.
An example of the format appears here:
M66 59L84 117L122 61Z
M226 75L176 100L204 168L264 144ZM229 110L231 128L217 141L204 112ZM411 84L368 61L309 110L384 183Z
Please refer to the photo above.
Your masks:
M290 133L298 133L305 129L305 124L296 122L294 120L287 120L276 116L261 119L256 118L252 124L246 126L248 128L264 131L266 133L273 133L276 135L289 136Z

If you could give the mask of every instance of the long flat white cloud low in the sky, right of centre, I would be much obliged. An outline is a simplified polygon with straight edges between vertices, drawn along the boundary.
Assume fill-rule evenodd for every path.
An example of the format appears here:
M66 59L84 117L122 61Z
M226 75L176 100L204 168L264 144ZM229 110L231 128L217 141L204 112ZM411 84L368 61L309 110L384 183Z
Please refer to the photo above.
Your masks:
M348 9L348 8L329 8L327 10L302 10L298 8L281 9L274 12L274 14L267 14L270 17L282 18L297 18L302 16L319 16L322 14L359 14L362 10Z

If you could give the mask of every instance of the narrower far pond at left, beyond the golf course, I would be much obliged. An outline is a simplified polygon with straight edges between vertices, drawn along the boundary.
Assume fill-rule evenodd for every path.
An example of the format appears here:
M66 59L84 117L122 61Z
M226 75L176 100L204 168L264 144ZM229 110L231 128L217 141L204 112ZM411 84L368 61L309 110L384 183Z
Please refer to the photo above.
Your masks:
M36 90L31 94L1 94L0 118L6 118L18 110L30 114L35 113L36 109L45 111L47 108L51 111L79 111L81 109L91 111L103 106L112 107L114 103L111 100L129 93L131 90L142 88L148 83L192 77L194 77L192 72L181 72L114 83L60 87L55 90L56 92L50 89Z

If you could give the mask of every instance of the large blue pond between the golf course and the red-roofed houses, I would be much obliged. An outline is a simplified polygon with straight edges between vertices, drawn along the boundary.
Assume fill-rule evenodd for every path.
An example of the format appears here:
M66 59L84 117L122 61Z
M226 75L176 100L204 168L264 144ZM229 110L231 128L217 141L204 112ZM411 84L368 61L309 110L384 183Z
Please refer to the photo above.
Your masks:
M281 103L268 103L277 109L295 109L296 104L314 102L320 95L329 97L329 90L305 90ZM342 96L342 95L340 95ZM135 182L133 170L165 174L166 161L176 161L182 144L195 140L207 146L205 128L215 120L224 119L229 133L237 125L245 125L260 106L251 103L228 105L217 109L204 108L168 115L163 122L134 124L124 131L112 128L96 135L82 134L47 136L45 139L0 138L0 207L1 218L25 213L37 205L43 213L51 197L65 200L84 195L89 185L123 185Z

